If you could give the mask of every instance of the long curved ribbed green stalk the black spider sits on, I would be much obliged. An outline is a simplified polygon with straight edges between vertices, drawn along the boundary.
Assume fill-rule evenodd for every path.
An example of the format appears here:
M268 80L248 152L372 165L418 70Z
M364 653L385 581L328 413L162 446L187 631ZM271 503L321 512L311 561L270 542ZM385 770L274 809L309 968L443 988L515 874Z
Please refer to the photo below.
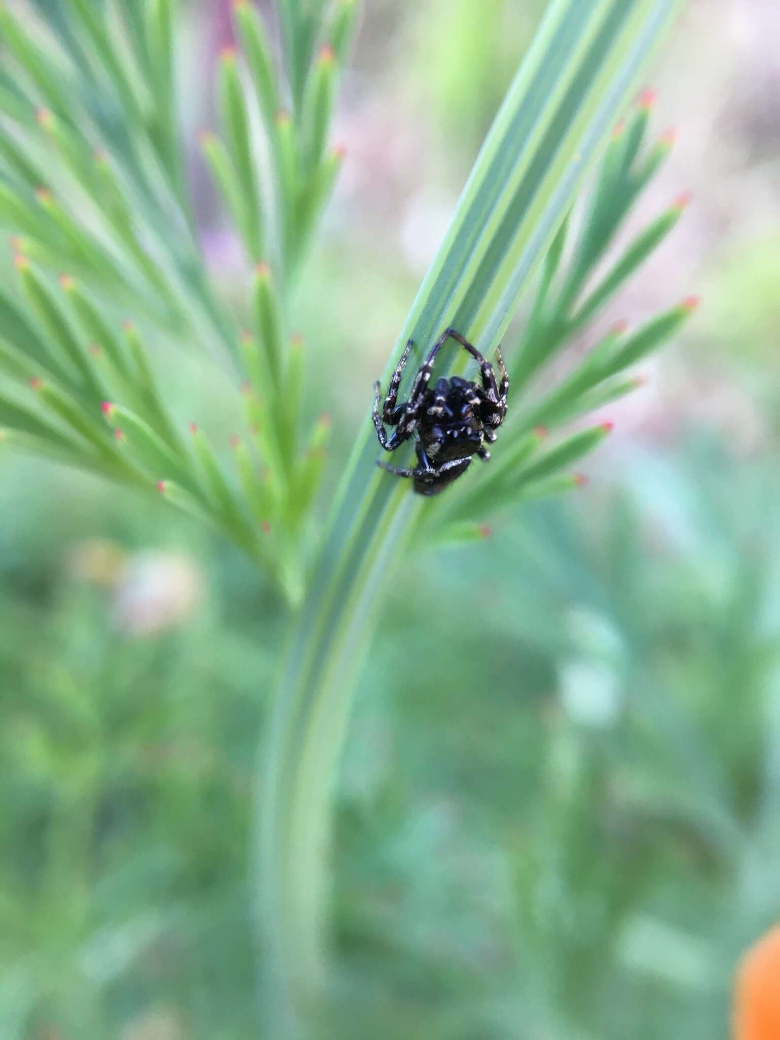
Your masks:
M452 324L485 354L499 341L675 7L674 0L550 5L384 385L409 337L428 343ZM375 468L378 454L367 420L289 642L264 754L259 895L280 1037L306 1035L307 1021L321 1012L335 776L385 579L420 512L404 482Z

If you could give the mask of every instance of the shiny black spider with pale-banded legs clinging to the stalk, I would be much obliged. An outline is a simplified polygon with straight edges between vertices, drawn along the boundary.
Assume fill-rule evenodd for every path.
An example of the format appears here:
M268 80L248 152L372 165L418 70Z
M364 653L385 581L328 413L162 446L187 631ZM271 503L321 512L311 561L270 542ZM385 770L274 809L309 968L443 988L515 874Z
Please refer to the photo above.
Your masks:
M453 339L465 347L479 362L482 387L458 375L440 379L433 390L428 390L434 358L443 344ZM478 454L483 462L490 459L485 441L493 443L496 428L506 415L506 393L510 378L503 365L500 349L496 348L496 361L501 372L501 382L496 386L496 378L491 363L479 354L475 346L467 342L454 329L447 329L431 348L425 363L417 372L409 400L396 405L398 385L414 341L410 339L398 362L398 367L390 380L385 405L380 415L382 388L375 384L373 401L373 424L380 444L386 451L394 451L414 434L416 469L396 469L381 462L383 469L396 476L414 478L414 490L420 495L437 495L447 485L471 465L471 457ZM384 423L395 426L388 437Z

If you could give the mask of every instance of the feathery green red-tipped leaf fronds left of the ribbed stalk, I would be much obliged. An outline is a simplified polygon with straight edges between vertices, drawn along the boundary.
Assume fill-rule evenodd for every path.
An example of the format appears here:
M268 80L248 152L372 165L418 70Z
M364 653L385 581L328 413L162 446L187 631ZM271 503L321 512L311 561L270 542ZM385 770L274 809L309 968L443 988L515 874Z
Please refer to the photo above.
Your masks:
M289 302L343 158L327 140L358 4L319 5L316 17L285 6L283 66L300 96L257 9L234 6L241 51L220 56L219 132L201 135L248 261L234 309L207 269L183 174L175 8L68 0L67 33L26 7L0 9L0 220L22 288L22 301L0 295L0 423L8 444L156 489L294 603L329 431L327 420L298 430L303 350ZM123 312L132 323L120 326ZM228 367L244 416L232 464L203 430L178 428L152 362L163 342L198 343Z

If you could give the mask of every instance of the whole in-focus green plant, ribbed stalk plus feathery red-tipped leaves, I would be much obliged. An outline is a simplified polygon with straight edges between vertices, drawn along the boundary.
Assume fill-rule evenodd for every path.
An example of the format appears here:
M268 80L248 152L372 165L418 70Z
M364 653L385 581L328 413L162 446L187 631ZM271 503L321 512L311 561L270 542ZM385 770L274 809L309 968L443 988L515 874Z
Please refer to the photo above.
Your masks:
M550 381L549 362L587 335L684 204L609 258L671 145L645 142L648 96L614 126L674 0L553 0L385 372L408 338L421 349L447 326L490 355L536 278L525 331L505 350L512 407L499 450L489 469L422 502L376 469L367 418L309 566L328 425L300 430L292 292L343 159L329 126L358 7L280 0L277 61L257 9L235 3L240 46L220 56L218 128L201 136L246 261L233 307L204 259L185 177L174 0L63 0L34 20L27 6L0 7L0 220L19 270L19 291L0 293L3 443L161 493L301 604L258 795L276 1036L305 1032L322 1011L334 778L390 565L412 545L482 538L493 513L580 484L572 467L608 424L567 424L628 393L631 366L694 307L686 300L634 332L614 327ZM161 348L192 342L227 366L240 398L230 465L202 428L179 427L155 372Z

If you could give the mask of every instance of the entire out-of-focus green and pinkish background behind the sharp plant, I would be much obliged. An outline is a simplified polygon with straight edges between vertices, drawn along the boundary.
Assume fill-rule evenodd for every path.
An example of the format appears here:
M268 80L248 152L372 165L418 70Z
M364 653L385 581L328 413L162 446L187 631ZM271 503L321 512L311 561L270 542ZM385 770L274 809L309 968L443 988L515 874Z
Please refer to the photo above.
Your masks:
M297 306L328 494L544 4L366 6ZM190 4L192 140L229 15ZM636 224L693 202L608 317L704 303L605 413L588 487L390 583L340 788L329 1036L728 1036L733 965L780 916L778 36L774 0L693 0L652 69L677 144ZM191 173L229 292L240 251ZM211 370L167 364L182 418L227 438ZM283 627L164 505L0 454L4 1040L263 1035L253 784Z

